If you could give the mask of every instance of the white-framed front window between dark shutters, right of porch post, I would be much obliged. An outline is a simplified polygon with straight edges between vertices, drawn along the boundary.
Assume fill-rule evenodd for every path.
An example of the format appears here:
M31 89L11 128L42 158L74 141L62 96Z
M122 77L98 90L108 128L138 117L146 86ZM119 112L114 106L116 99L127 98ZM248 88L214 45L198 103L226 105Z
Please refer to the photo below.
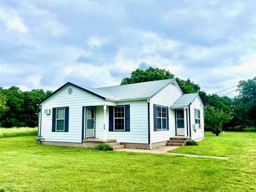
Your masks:
M124 106L114 107L114 130L115 131L124 131Z

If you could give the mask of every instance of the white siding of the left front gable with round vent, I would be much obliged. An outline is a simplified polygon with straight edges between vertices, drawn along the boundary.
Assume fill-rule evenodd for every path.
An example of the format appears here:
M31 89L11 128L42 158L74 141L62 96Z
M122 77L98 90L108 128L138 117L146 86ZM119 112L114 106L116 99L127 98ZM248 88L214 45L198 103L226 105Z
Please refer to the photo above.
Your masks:
M72 94L68 94L68 88ZM81 142L82 137L82 107L104 105L104 100L89 92L68 85L60 92L42 103L42 131L41 135L49 142ZM68 132L52 132L52 108L69 107ZM51 109L51 115L45 115L44 110Z

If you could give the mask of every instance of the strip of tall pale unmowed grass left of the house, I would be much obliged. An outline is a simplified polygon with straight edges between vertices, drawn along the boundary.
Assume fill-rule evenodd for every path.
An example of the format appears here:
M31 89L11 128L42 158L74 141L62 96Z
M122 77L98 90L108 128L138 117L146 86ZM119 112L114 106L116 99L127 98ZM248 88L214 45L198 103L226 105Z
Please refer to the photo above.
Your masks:
M37 135L37 128L0 128L0 138Z

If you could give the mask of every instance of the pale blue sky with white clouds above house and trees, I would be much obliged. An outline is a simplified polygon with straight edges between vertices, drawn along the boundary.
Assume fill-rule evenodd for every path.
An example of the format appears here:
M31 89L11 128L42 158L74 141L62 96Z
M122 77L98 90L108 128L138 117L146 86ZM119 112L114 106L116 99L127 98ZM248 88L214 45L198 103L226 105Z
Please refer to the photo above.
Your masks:
M0 0L0 87L102 87L148 66L209 93L255 77L255 1Z

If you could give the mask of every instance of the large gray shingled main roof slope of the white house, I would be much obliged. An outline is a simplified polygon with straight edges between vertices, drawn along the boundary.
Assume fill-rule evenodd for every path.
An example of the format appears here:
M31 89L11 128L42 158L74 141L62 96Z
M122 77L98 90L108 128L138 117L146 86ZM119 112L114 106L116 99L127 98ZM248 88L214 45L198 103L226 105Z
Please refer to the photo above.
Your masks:
M138 84L116 85L111 87L92 88L77 85L88 91L94 92L108 100L134 100L150 98L166 85L172 83L174 79L156 80Z

